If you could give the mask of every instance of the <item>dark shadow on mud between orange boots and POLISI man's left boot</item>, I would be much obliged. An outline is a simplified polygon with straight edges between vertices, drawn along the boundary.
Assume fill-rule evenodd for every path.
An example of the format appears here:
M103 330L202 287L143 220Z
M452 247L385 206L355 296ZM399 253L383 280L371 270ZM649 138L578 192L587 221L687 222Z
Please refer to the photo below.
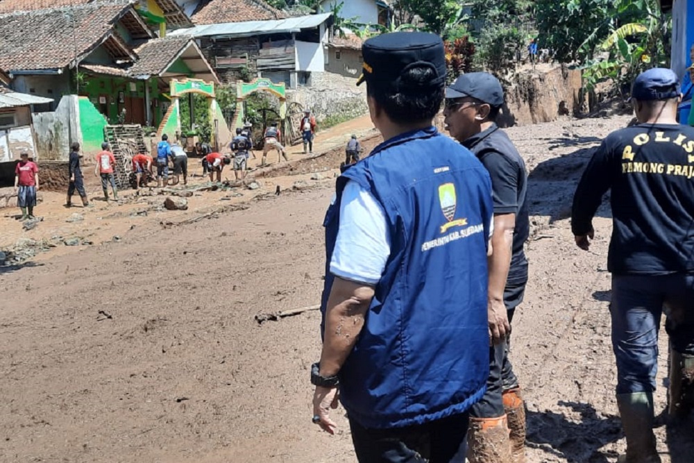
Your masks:
M568 462L607 463L600 448L623 437L621 421L616 416L598 416L593 405L559 402L581 414L581 421L571 421L551 410L527 412L527 446L539 448Z

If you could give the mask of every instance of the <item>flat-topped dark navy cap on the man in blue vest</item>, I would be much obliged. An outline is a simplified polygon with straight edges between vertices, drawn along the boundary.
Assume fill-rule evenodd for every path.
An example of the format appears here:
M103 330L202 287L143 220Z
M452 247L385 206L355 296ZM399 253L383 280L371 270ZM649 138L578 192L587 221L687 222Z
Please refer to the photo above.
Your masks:
M357 85L366 81L378 91L418 92L441 87L446 82L446 58L443 41L425 32L393 32L378 35L362 46L364 65ZM428 66L436 78L416 87L405 87L401 76L412 67Z

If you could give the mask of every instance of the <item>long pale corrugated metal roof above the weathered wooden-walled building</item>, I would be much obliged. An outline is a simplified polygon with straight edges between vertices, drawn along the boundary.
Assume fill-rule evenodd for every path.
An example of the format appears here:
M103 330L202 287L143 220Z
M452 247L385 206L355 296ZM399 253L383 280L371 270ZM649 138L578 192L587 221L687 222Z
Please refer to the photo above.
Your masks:
M192 37L210 37L213 35L251 35L283 33L318 27L330 18L332 13L277 19L274 21L226 22L207 24L187 29L178 29L169 35L191 35Z

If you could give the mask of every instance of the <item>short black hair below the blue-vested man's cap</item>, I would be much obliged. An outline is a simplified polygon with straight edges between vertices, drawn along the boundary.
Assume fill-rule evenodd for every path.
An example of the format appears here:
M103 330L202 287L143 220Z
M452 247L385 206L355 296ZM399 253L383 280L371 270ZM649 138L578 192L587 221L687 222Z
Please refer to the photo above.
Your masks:
M428 66L415 66L400 76L406 87L426 85L439 76ZM443 85L426 87L413 92L381 92L378 87L366 81L366 94L373 97L383 107L388 117L396 124L428 121L437 115L443 101Z

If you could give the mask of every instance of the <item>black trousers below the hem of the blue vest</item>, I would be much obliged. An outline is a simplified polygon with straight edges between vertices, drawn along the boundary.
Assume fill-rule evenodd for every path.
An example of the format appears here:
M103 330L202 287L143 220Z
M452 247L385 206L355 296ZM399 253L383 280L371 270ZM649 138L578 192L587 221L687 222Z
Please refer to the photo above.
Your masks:
M367 429L350 420L359 463L463 463L468 414L418 426Z

